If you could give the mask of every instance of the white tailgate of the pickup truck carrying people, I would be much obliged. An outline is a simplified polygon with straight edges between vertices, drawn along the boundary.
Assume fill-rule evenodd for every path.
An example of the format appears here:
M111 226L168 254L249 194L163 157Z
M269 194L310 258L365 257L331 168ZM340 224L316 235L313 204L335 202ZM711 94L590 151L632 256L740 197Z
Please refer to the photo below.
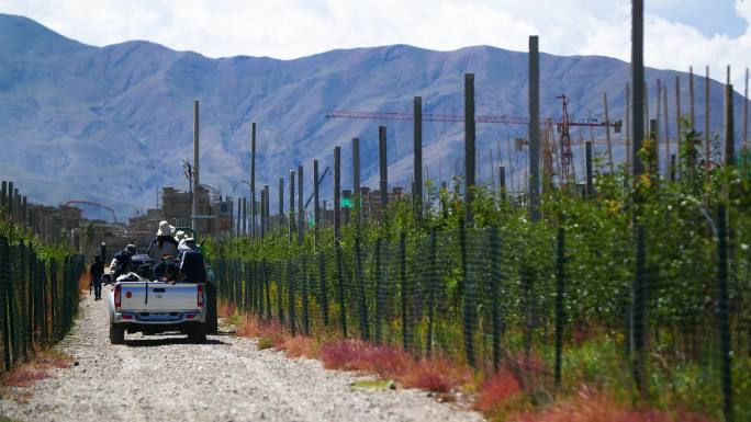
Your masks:
M120 311L184 311L198 309L198 285L192 283L126 282L121 284Z

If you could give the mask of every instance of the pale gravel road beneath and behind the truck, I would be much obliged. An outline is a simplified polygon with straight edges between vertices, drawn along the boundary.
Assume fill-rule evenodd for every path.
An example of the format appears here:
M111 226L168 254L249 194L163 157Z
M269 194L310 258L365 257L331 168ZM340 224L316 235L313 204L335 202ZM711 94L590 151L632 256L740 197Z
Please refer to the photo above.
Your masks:
M112 345L107 303L89 296L59 345L77 366L54 369L27 401L0 399L22 421L480 421L424 391L354 387L357 376L258 351L254 340L126 335Z

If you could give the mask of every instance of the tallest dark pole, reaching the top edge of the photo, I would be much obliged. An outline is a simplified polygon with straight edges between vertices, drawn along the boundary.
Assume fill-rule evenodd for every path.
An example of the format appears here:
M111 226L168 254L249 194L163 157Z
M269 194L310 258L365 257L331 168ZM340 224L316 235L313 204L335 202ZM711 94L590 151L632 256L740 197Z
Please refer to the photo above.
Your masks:
M644 140L644 2L631 1L631 84L634 85L632 128L634 134L634 181L639 180L644 166L639 158Z

